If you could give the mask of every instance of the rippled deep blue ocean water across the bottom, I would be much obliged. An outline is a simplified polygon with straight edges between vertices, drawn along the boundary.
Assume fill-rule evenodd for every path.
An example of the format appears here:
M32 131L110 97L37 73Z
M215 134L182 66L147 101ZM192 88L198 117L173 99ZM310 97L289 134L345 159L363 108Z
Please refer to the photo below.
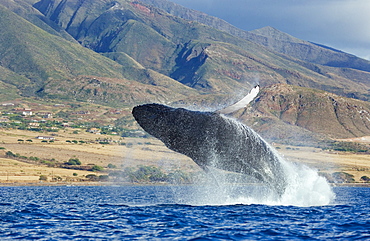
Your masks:
M238 203L248 186L217 204L206 189L0 187L0 240L370 240L370 188L336 187L319 206Z

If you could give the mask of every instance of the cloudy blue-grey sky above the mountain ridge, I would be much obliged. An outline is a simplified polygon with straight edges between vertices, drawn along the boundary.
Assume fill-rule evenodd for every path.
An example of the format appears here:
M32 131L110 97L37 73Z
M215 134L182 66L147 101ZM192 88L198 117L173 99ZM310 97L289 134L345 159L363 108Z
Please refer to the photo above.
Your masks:
M253 30L294 37L370 60L370 0L170 0Z

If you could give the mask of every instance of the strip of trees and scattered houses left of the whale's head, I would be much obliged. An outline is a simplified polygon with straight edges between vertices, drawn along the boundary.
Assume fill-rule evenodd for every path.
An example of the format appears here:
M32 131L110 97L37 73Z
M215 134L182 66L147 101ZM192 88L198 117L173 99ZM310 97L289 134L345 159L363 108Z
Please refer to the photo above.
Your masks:
M86 131L97 135L146 136L142 131L138 131L126 108L115 109L73 102L50 104L31 101L5 102L0 105L0 128L33 131L41 136L40 141L43 140L43 135L54 136L50 140L57 139L58 133L66 128L76 128L75 134ZM68 142L74 141L71 139ZM110 143L109 140L98 136L94 142Z

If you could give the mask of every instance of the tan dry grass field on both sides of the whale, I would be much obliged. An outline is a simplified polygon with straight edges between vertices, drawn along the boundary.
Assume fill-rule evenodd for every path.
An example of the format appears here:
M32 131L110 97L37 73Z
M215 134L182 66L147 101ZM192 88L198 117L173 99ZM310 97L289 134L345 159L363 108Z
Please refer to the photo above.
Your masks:
M121 138L118 136L96 135L82 130L74 134L76 129L66 129L58 132L53 143L41 142L37 136L51 136L52 133L39 134L22 130L0 129L0 182L2 183L36 183L40 175L61 177L62 180L78 180L93 172L63 168L51 168L45 165L35 165L20 160L6 158L5 153L11 151L20 156L38 157L40 159L55 159L64 163L69 158L78 158L82 165L99 165L107 167L115 165L122 170L125 167L138 165L154 165L169 172L181 169L187 172L199 171L200 168L188 157L168 150L156 139ZM122 144L90 144L90 141L110 139ZM24 141L19 141L19 140ZM25 141L25 140L32 140ZM67 140L84 141L87 143L73 144ZM356 141L368 140L359 138ZM361 176L370 177L370 155L323 151L311 147L275 146L285 159L304 163L321 172L333 173L343 171L355 176L359 181ZM75 174L74 174L75 173ZM73 175L74 174L74 175ZM99 175L99 173L95 173ZM104 174L104 173L101 173Z

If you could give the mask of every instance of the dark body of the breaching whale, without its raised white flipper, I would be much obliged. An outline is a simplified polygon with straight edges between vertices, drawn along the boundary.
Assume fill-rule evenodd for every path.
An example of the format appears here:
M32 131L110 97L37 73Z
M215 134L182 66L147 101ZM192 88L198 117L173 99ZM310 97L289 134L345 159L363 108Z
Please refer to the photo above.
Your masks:
M146 132L169 149L190 157L205 171L215 167L247 174L283 194L286 180L279 157L248 126L216 112L161 104L136 106L132 114Z

